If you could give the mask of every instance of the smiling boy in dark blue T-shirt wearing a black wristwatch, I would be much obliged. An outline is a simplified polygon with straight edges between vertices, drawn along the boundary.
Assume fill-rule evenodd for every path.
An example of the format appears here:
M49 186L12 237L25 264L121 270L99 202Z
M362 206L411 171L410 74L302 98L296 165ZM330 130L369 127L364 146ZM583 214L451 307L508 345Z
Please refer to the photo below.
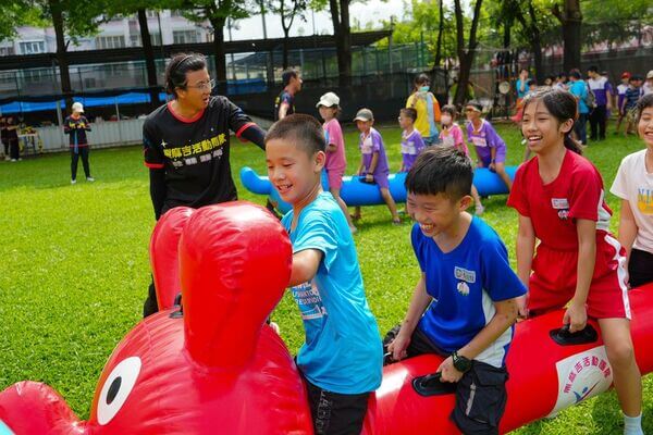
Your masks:
M404 322L384 343L395 361L448 357L438 372L457 383L453 421L466 434L498 434L516 298L526 288L496 233L466 212L471 179L470 160L451 147L426 150L408 172L406 210L417 221L411 239L422 273Z

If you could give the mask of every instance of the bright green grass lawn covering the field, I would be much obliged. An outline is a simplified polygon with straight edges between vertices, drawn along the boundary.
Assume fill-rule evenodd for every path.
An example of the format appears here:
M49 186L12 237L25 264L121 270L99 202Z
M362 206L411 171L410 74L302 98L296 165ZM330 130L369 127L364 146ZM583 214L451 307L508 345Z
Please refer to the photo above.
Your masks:
M517 128L501 126L508 163L521 161ZM380 127L391 169L401 163L399 130ZM356 132L346 132L349 173L359 163ZM237 142L237 141L235 141ZM606 185L620 159L642 147L639 139L611 136L586 154ZM45 382L88 417L96 382L113 347L140 320L150 282L148 243L155 224L147 169L139 147L91 152L97 182L70 184L70 156L47 154L20 163L0 162L0 389L21 380ZM261 151L232 148L236 175L243 165L264 173ZM79 171L82 171L79 169ZM242 199L264 203L237 179ZM607 189L606 189L607 190ZM505 197L484 201L483 219L501 235L515 265L517 214ZM607 201L618 216L619 203ZM391 225L385 206L364 208L355 239L366 293L381 332L405 313L419 270L408 224ZM613 219L616 231L617 219ZM274 320L292 352L304 333L294 301L284 298ZM534 393L537 394L537 393ZM644 380L644 431L653 433L653 376ZM519 434L618 434L616 396L603 394L552 421Z

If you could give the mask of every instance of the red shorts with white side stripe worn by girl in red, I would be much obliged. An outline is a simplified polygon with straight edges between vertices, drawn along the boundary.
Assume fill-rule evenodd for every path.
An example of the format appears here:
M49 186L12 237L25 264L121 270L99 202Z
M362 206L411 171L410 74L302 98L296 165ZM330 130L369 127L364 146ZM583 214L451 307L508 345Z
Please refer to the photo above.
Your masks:
M596 232L596 262L588 315L594 319L630 319L626 286L626 251L611 234ZM559 251L540 245L533 259L528 308L535 314L564 308L576 293L577 251Z

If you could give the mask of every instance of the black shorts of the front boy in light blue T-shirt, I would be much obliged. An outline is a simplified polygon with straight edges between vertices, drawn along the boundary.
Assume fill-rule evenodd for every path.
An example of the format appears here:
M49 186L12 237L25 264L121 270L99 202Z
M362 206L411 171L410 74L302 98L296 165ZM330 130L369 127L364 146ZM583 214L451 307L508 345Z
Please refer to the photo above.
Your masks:
M313 385L304 375L316 435L359 435L370 393L344 395Z

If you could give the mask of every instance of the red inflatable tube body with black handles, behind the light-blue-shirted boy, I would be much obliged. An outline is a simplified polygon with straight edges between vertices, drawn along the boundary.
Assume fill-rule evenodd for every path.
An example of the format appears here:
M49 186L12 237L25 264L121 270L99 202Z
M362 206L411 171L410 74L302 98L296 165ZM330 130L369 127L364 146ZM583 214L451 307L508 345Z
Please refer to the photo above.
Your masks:
M630 291L631 335L638 365L653 371L653 285ZM607 390L612 370L599 326L568 336L559 333L563 311L552 312L517 324L506 364L508 402L501 433L552 415L581 400ZM559 341L559 344L557 341ZM574 344L575 341L589 341ZM433 373L442 359L422 356L391 364L383 383L370 399L366 434L415 435L459 434L448 417L454 394L444 385L423 376Z

